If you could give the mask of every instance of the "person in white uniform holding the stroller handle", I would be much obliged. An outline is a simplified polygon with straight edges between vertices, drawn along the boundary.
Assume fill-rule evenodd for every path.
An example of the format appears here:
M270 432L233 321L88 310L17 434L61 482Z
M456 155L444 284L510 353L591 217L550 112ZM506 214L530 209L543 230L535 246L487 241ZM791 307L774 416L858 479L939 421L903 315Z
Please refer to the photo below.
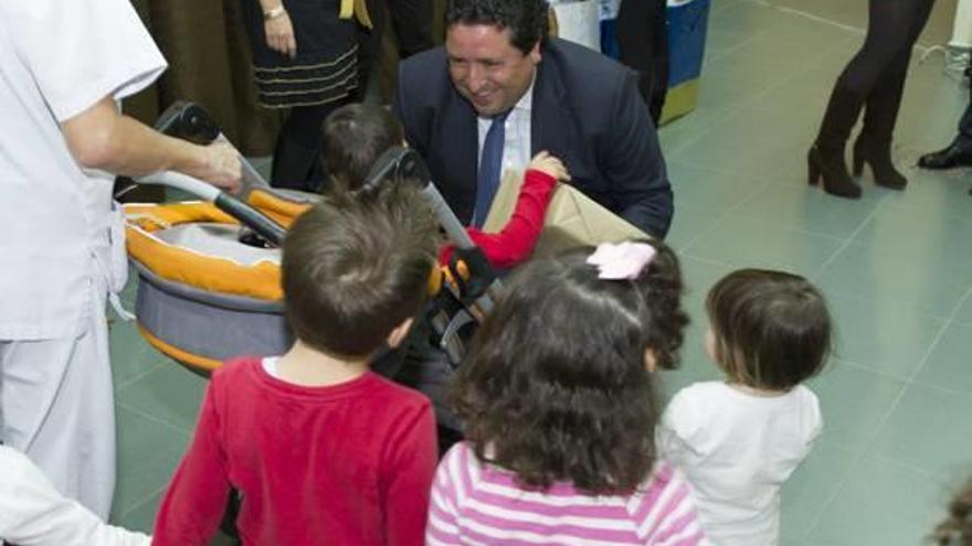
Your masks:
M129 0L0 0L0 441L103 518L115 488L105 301L127 270L108 173L240 179L231 147L118 111L165 67Z

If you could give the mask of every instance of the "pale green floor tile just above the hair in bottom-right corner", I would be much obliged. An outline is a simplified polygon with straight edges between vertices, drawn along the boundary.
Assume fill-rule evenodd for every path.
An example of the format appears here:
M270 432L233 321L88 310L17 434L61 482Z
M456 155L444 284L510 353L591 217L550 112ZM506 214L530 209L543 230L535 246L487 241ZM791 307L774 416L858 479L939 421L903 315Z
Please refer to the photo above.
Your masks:
M930 473L959 473L972 463L970 409L972 395L908 385L878 431L875 452Z

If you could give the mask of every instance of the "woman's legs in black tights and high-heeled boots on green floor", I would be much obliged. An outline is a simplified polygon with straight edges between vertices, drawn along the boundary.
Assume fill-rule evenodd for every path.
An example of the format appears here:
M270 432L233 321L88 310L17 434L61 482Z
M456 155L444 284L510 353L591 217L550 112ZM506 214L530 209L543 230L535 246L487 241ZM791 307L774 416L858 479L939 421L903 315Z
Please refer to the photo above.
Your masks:
M864 45L837 78L811 152L811 164L823 174L827 191L859 196L860 190L850 180L844 163L847 138L867 103L871 105L868 118L871 124L877 122L877 130L894 129L911 47L925 26L932 3L933 0L868 2L869 20ZM878 90L879 86L881 89ZM814 173L813 169L811 173Z

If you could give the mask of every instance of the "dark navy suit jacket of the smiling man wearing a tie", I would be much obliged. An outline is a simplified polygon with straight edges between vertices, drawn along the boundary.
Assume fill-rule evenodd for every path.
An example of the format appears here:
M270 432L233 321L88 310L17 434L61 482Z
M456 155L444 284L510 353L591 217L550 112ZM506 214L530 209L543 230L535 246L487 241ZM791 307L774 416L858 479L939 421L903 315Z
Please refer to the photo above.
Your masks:
M550 39L541 52L533 84L532 153L547 150L560 158L572 185L664 237L672 221L672 188L635 75L559 39ZM476 113L452 85L443 47L400 65L394 109L409 146L429 163L445 201L467 224L476 202Z

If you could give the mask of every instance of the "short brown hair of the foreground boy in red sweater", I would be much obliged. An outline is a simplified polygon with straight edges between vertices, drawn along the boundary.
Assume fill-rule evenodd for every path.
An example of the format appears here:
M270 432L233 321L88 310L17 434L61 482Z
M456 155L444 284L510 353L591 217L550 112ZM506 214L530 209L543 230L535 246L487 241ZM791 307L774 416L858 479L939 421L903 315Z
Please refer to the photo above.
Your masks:
M284 239L284 302L295 335L326 353L372 354L419 312L435 248L434 216L412 181L325 196Z

